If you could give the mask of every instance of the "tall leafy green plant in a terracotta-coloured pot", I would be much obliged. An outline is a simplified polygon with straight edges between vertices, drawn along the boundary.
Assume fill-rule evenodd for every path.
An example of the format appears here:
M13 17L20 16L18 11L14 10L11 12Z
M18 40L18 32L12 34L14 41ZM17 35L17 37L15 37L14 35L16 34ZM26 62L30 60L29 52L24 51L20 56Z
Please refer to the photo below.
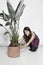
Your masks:
M16 10L14 11L10 2L7 1L7 8L9 15L4 11L0 13L0 19L6 21L5 26L0 23L0 27L6 29L4 35L9 34L10 37L10 45L8 46L8 56L9 57L19 57L20 56L20 44L18 43L19 38L19 20L25 8L25 4L23 4L23 0L20 0ZM10 31L6 28L9 26Z

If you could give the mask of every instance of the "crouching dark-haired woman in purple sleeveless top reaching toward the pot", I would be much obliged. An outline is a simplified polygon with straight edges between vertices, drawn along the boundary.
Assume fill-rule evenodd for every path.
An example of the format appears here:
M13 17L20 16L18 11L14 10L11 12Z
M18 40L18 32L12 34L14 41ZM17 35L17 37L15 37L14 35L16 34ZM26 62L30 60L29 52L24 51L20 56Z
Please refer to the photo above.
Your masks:
M25 27L23 33L24 35L18 40L18 42L21 43L23 40L25 40L26 44L21 46L21 48L30 47L30 51L36 51L39 46L38 36L32 32L29 27Z

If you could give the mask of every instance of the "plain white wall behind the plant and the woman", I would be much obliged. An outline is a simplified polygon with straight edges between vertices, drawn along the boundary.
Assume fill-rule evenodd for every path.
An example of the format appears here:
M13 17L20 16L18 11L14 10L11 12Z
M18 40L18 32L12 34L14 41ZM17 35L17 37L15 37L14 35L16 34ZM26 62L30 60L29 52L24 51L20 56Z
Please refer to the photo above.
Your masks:
M7 11L7 0L0 0L0 12ZM15 9L19 0L10 0ZM26 7L20 19L20 37L23 35L23 28L29 26L40 38L40 44L43 44L43 0L24 0ZM4 24L4 21L0 20ZM8 45L9 37L4 36L4 29L0 28L0 45ZM22 35L21 35L22 34Z

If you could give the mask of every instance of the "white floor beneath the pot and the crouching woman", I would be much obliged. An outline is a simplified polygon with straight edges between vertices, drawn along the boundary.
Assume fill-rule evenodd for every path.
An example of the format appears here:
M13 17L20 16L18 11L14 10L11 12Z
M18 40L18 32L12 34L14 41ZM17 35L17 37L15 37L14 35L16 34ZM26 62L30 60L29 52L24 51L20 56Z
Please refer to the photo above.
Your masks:
M7 48L0 47L0 65L43 65L43 47L36 52L30 52L28 48L22 49L19 58L9 58Z

